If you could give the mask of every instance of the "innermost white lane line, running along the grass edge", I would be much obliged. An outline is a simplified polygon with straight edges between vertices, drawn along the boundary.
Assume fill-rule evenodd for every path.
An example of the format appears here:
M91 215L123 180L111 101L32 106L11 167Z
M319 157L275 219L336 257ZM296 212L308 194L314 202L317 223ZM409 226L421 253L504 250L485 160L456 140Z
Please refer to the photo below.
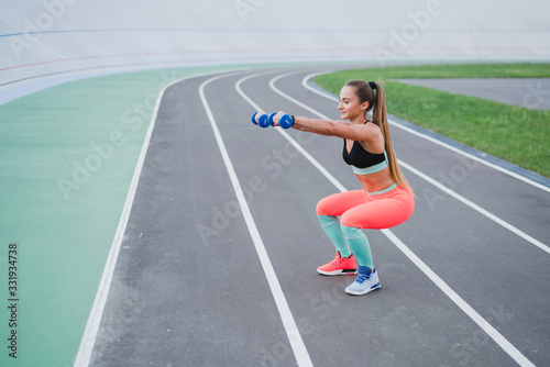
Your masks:
M319 94L319 96L321 96L321 97L323 97L323 98L327 98L327 99L329 99L329 100L331 100L331 101L338 102L338 98L337 98L337 97L334 97L332 93L329 93L329 92L326 92L326 91L320 91L320 90L318 90L318 89L316 89L316 88L311 87L311 86L308 84L308 81L309 81L311 78L315 78L315 77L316 77L316 76L318 76L318 75L322 75L322 74L327 74L327 73L329 73L329 71L323 71L323 73L314 73L314 74L307 75L307 76L306 76L306 77L304 77L304 79L301 80L301 85L304 86L304 88L308 89L309 91L312 91L314 93L317 93L317 94ZM413 134L413 135L416 135L416 136L418 136L418 137L421 137L421 138L424 138L424 140L427 140L427 141L429 141L429 142L431 142L431 143L433 143L433 144L437 144L437 145L439 145L439 146L442 146L442 147L444 147L444 148L447 148L447 149L449 149L449 151L451 151L451 152L454 152L454 153L460 154L460 155L462 155L462 156L464 156L464 157L468 157L468 158L470 158L470 159L473 159L473 160L475 160L475 162L479 162L479 163L481 163L482 165L485 165L485 166L491 167L491 168L493 168L493 169L495 169L495 170L498 170L499 173L503 173L503 174L505 174L505 175L508 175L508 176L510 176L510 177L514 177L515 179L520 180L521 182L525 182L525 184L530 185L530 186L532 186L532 187L536 187L536 188L538 188L538 189L540 189L540 190L542 190L542 191L550 192L550 188L549 188L549 187L547 187L547 186L544 186L544 185L541 185L541 184L539 184L539 182L536 182L536 181L534 181L534 180L531 180L531 179L529 179L529 178L527 178L527 177L524 177L524 176L521 176L521 175L519 175L519 174L516 174L516 173L514 173L514 171L512 171L512 170L509 170L509 169L506 169L506 168L501 167L501 166L498 166L498 165L495 165L495 164L493 164L493 163L491 163L491 162L487 162L487 160L485 160L485 159L483 159L483 158L481 158L481 157L477 157L477 156L475 156L475 155L472 155L472 154L470 154L470 153L466 153L466 152L464 152L464 151L462 151L462 149L460 149L460 148L458 148L458 147L455 147L455 146L452 146L452 145L449 145L449 144L447 144L447 143L443 143L443 142L441 142L441 141L439 141L439 140L437 140L437 138L432 137L432 136L428 136L428 135L426 135L426 134L422 134L421 132L416 131L416 130L414 130L414 129L410 129L410 127L408 127L408 126L405 126L405 125L403 125L403 124L400 124L400 123L398 123L398 122L396 122L396 121L393 121L393 120L389 120L389 119L388 119L388 122L389 122L393 126L398 127L398 129L400 129L400 130L403 130L403 131L406 131L406 132L408 132L408 133L410 133L410 134Z

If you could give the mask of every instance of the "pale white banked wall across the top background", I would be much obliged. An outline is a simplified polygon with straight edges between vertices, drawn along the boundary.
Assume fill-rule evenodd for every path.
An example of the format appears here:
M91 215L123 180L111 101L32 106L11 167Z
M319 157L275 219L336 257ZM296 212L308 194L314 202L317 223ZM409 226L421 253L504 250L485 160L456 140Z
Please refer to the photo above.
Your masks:
M18 0L0 22L0 96L186 65L550 59L543 0Z

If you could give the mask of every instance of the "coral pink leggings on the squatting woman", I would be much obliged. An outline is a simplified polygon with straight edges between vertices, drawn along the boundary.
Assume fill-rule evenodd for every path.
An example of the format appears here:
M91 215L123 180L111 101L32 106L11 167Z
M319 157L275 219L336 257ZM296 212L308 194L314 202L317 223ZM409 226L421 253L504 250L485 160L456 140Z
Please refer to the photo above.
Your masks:
M383 230L405 222L415 211L415 199L405 188L378 194L364 190L339 192L321 199L318 215L339 216L346 227Z

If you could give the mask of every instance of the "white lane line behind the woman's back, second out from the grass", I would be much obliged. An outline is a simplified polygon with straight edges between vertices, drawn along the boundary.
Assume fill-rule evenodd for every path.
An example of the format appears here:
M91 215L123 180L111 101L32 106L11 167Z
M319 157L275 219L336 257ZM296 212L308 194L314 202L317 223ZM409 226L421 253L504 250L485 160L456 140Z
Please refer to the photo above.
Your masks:
M307 109L309 112L318 115L320 119L326 119L326 120L330 120L329 118L327 118L326 115L323 115L322 113L314 110L312 108L301 103L300 101L296 100L295 98L286 94L285 92L283 92L282 90L279 90L278 88L275 87L274 82L283 77L286 77L290 74L284 74L284 75L280 75L280 76L277 76L275 78L273 78L271 81L270 81L270 87L278 94L280 94L282 97L286 98L287 100L289 100L290 102L293 103L296 103L298 104L299 107L301 108L305 108ZM307 78L307 77L306 77ZM306 78L304 78L304 80L306 80ZM305 82L302 81L302 86L305 85ZM307 84L306 84L307 85ZM320 91L316 91L316 93L320 94L320 96L324 96L327 98L329 98L327 94L323 94L322 92ZM332 98L333 99L333 98ZM408 129L408 127L407 127ZM424 137L424 136L422 136ZM444 143L441 143L441 144L444 144ZM454 147L451 147L449 146L449 148L453 148L453 149L457 149ZM459 149L457 149L457 152L460 152ZM463 152L462 152L463 153ZM470 156L468 154L463 154L463 155L466 155L469 157L473 157L473 156ZM455 198L457 200L459 200L460 202L462 202L463 204L472 208L473 210L475 210L476 212L481 213L482 215L488 218L490 220L492 220L493 222L502 225L504 229L510 231L512 233L520 236L521 238L524 238L525 241L531 243L532 245L539 247L540 249L542 249L543 252L550 254L550 247L544 245L542 242L538 241L537 238L534 238L532 236L528 235L527 233L522 232L521 230L519 230L518 227L512 225L510 223L504 221L503 219L496 216L495 214L491 213L488 210L485 210L483 209L482 207L475 204L474 202L468 200L466 198L464 198L463 196L454 192L453 190L449 189L448 187L446 187L444 185L438 182L436 179L429 177L428 175L421 173L420 170L414 168L413 166L404 163L403 160L399 160L398 159L398 163L402 167L408 169L410 173L415 174L416 176L420 177L421 179L428 181L429 184L436 186L438 189L444 191L446 193L450 194L451 197Z

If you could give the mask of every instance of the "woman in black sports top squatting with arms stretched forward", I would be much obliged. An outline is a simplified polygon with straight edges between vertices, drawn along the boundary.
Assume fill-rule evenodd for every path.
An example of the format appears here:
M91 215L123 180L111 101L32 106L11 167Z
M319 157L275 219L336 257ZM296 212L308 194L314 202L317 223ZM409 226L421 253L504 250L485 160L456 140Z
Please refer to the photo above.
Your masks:
M334 259L317 271L328 276L358 275L345 291L359 296L381 288L369 241L361 230L388 229L405 222L415 210L415 200L395 157L382 85L348 81L340 91L338 109L346 121L293 116L293 127L342 137L343 159L363 187L334 193L317 204L321 226L337 249ZM371 110L373 121L365 115ZM278 112L273 118L275 125L284 114Z

